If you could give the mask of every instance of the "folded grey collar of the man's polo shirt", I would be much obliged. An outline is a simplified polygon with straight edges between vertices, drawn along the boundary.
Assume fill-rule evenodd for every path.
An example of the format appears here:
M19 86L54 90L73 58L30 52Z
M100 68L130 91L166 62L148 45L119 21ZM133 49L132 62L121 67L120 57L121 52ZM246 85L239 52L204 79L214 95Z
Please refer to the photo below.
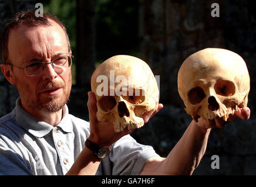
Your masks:
M28 112L26 112L21 106L20 98L16 100L15 112L16 122L24 129L29 131L29 133L33 134L33 136L43 137L54 128L49 123L39 121ZM69 117L69 110L67 105L63 107L62 113L62 120L60 120L56 127L60 127L60 129L62 129L66 133L71 133L73 130L73 126Z

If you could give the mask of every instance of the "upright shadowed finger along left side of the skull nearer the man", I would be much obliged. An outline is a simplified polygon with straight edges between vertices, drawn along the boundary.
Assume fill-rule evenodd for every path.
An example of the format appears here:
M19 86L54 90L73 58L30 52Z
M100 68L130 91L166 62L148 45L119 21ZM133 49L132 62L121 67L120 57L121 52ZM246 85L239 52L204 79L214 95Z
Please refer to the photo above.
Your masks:
M96 97L95 94L93 92L88 92L88 101L87 101L87 107L89 110L89 119L90 122L97 122L97 117L96 117L96 113L97 113L97 105L96 105Z

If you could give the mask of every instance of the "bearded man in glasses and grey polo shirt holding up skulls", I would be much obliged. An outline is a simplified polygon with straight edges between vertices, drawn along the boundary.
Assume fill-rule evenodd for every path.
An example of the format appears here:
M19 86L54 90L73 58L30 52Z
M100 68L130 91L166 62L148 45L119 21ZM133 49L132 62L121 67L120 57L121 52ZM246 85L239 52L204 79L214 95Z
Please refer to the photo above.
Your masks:
M5 26L0 51L1 70L20 95L15 109L0 119L0 174L187 175L203 157L213 126L202 119L192 121L162 158L138 144L132 130L115 133L112 123L97 121L93 92L87 102L90 123L69 115L72 52L65 27L53 16L18 13ZM144 122L155 113L144 113ZM234 111L229 121L236 116L247 120L250 109ZM211 125L223 127L224 121ZM99 146L107 148L102 155L96 155Z

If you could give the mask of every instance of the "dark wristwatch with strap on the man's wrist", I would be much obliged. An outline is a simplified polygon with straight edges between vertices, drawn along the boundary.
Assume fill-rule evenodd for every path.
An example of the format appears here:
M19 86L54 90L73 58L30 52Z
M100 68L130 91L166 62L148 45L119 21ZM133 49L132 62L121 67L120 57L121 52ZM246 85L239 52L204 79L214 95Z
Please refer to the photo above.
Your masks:
M109 147L99 146L98 144L90 141L88 138L85 141L85 146L89 148L89 150L93 151L93 153L95 153L100 159L106 158L110 153Z

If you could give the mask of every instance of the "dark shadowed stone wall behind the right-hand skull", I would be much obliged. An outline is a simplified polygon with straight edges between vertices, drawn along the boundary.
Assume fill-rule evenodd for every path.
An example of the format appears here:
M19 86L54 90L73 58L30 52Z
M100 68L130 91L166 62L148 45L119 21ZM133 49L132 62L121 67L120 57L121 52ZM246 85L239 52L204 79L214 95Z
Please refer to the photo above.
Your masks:
M220 17L211 16L211 4L220 5ZM160 102L164 109L133 136L167 155L177 143L191 117L177 91L177 73L183 61L207 47L224 48L240 54L248 66L251 118L238 119L224 129L211 131L206 155L194 175L256 174L255 126L255 20L252 1L143 1L142 53L154 74L160 75ZM146 138L145 138L146 137ZM212 169L213 155L220 169Z

